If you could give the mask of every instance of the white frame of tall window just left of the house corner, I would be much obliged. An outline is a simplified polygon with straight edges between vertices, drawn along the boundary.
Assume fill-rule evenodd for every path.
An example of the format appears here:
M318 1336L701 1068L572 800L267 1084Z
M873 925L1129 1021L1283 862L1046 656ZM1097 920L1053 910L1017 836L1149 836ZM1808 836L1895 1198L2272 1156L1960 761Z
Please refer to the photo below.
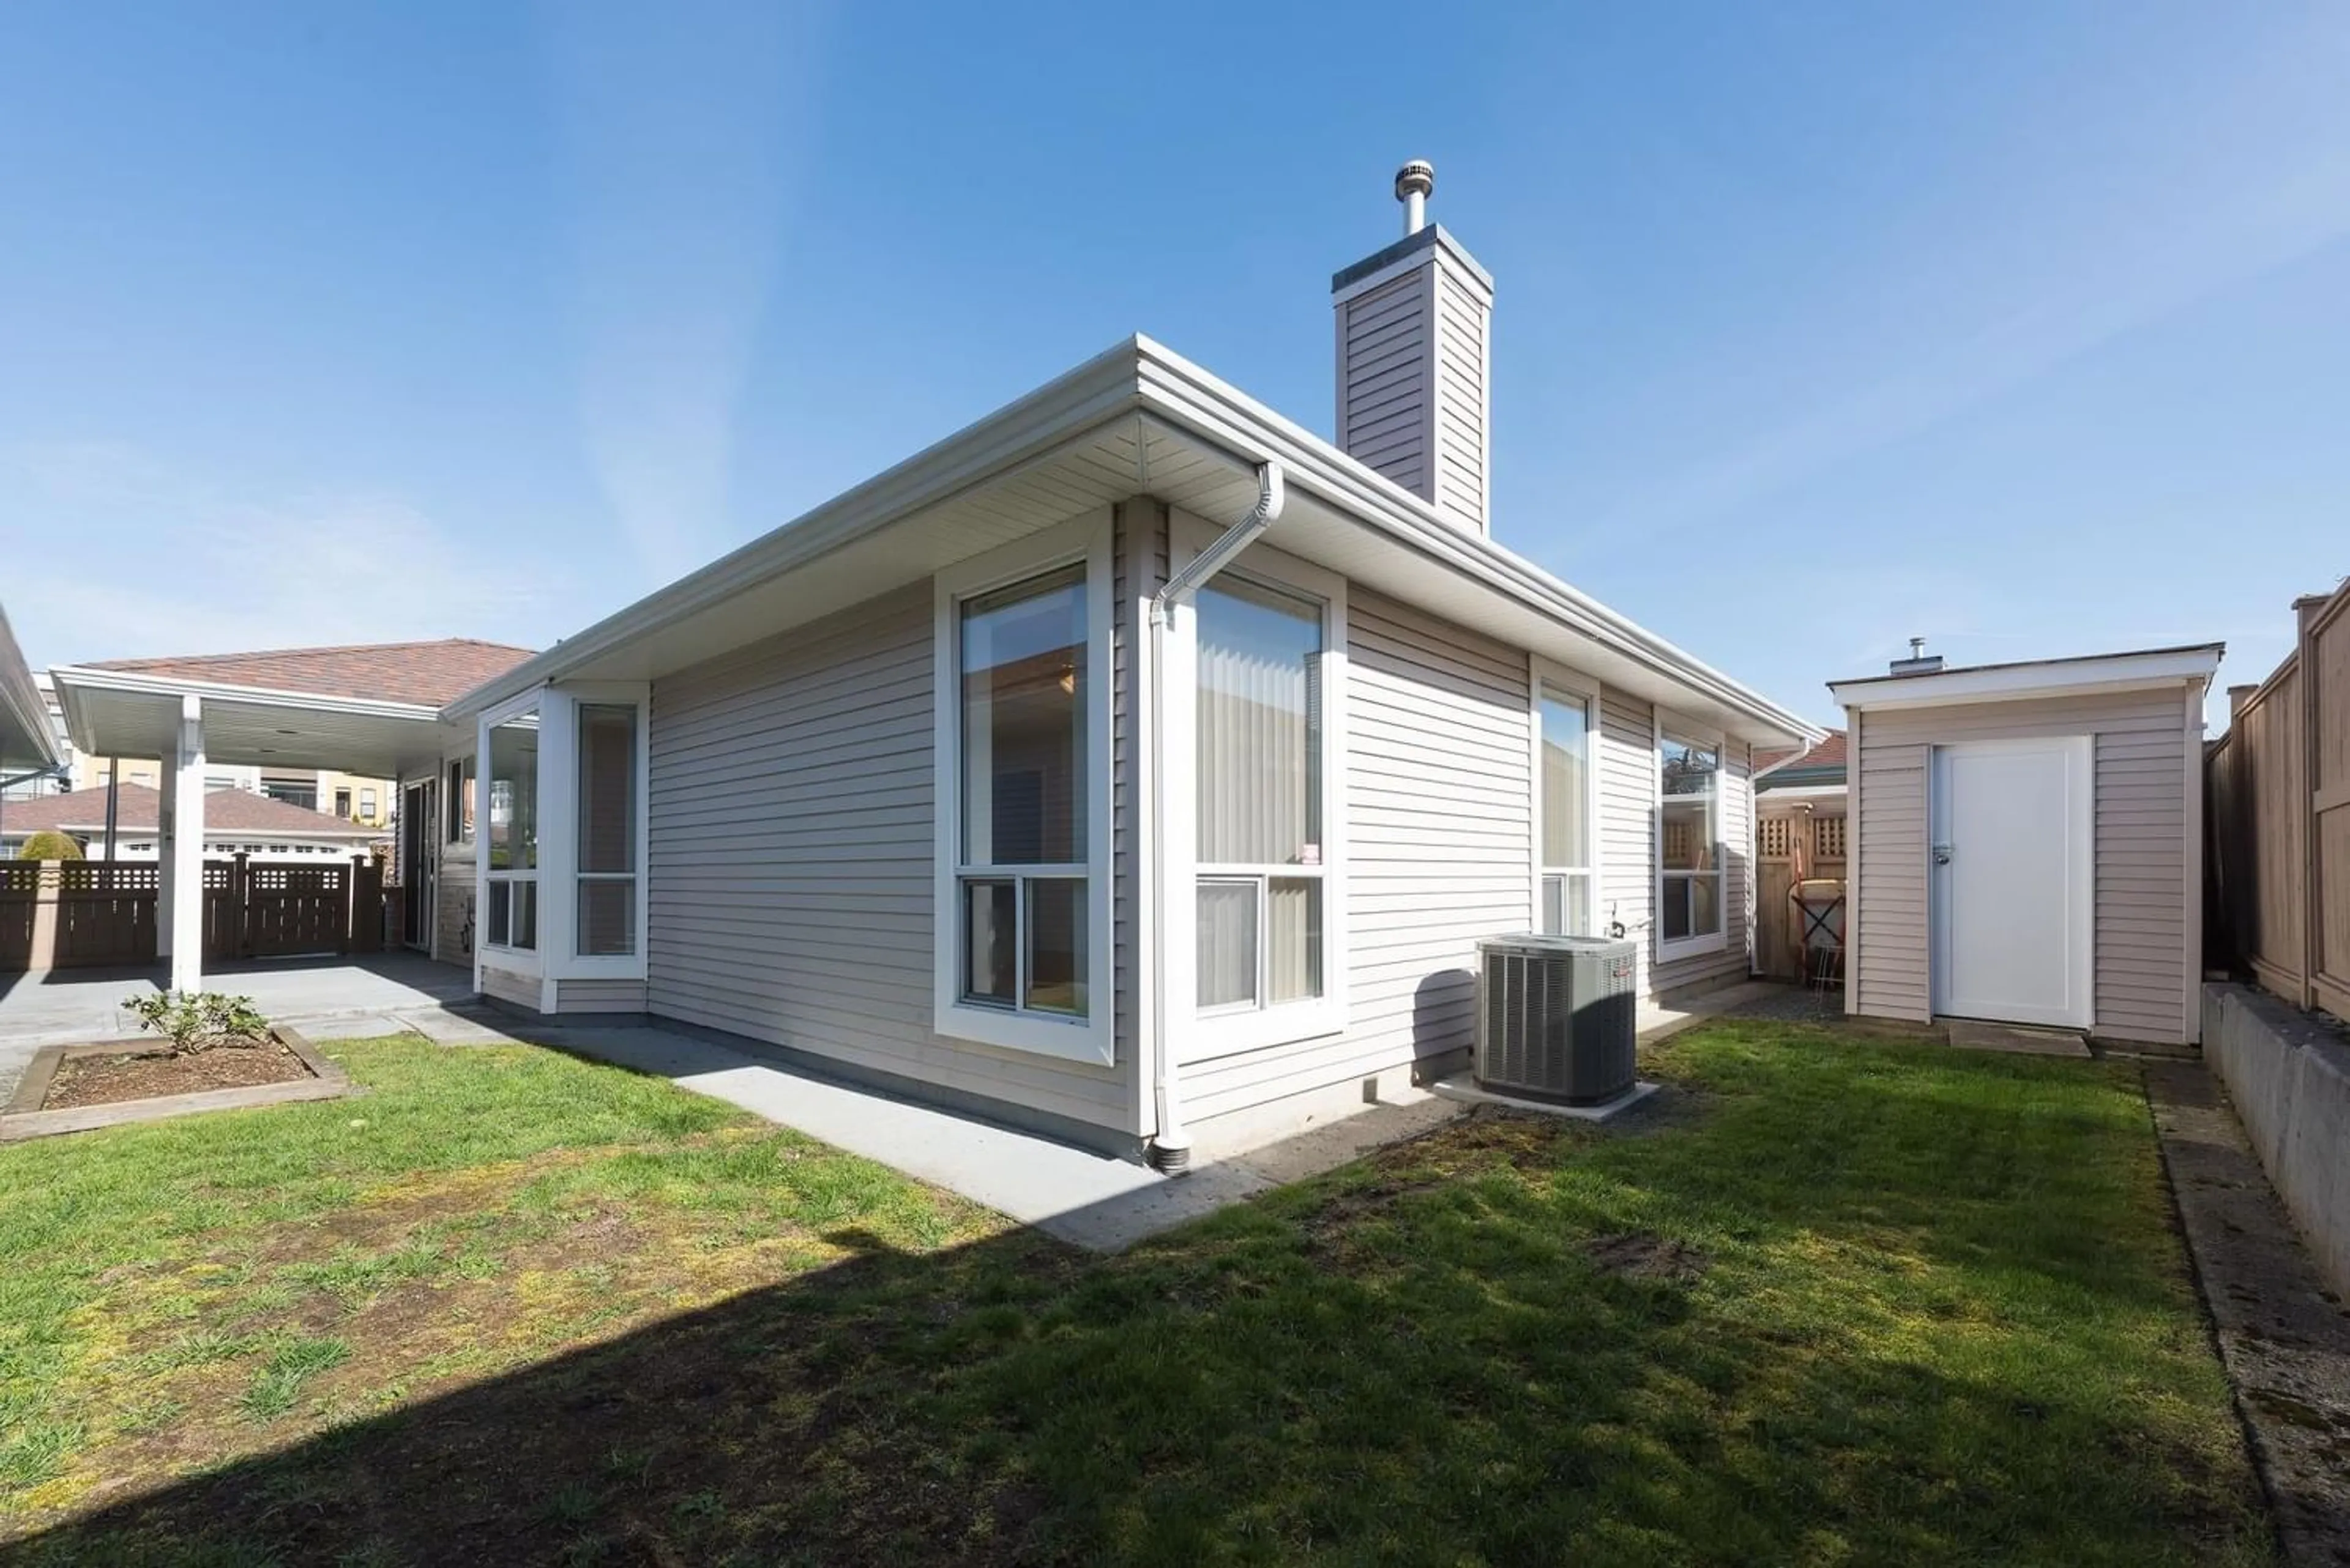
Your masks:
M1032 1051L1069 1063L1116 1063L1116 994L1112 940L1112 693L1119 679L1112 649L1109 510L1072 517L1027 538L959 562L933 578L931 689L933 698L933 926L931 1027L1003 1051ZM961 950L966 875L961 769L961 604L999 588L1058 571L1086 569L1086 1018L1032 1013L964 1001ZM1041 875L1048 867L1022 867ZM1069 872L1079 867L1067 867Z

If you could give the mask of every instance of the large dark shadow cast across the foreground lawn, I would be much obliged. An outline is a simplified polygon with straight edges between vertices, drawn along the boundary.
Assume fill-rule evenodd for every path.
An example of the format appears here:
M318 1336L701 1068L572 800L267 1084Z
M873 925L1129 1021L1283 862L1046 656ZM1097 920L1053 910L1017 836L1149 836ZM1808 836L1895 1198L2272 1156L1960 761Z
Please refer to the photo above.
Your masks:
M1864 1128L1915 1114L1899 1077L1842 1077ZM1866 1274L1753 1255L1861 1248L1887 1222L1868 1204L1929 1197L1889 1128L1814 1128L1802 1154L1805 1107L1798 1081L1727 1084L1706 1126L1640 1140L1480 1117L1121 1258L841 1232L832 1267L0 1561L2251 1561L2223 1401L2171 1408L2211 1392L2193 1368L1929 1363L1854 1326ZM1739 1182L1772 1143L1793 1164ZM1685 1232L1694 1262L1619 1267L1596 1241L1626 1229ZM1981 1333L2042 1244L1995 1255L1950 1333ZM2087 1286L2054 1262L2044 1288Z

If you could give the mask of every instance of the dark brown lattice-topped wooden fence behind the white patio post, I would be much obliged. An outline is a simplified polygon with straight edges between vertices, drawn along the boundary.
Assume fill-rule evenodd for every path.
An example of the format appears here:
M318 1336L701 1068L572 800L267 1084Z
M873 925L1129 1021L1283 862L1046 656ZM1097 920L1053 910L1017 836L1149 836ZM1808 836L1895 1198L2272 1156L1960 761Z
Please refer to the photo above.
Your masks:
M155 860L0 863L0 971L155 961ZM204 863L204 959L383 950L374 860Z

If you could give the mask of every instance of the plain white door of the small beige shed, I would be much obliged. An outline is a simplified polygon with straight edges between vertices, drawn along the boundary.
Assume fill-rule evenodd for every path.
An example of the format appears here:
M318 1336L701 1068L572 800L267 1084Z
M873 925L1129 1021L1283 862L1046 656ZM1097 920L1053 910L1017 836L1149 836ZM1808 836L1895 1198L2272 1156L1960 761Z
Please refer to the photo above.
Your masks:
M1934 748L1936 1013L2092 1025L2092 790L2089 736Z

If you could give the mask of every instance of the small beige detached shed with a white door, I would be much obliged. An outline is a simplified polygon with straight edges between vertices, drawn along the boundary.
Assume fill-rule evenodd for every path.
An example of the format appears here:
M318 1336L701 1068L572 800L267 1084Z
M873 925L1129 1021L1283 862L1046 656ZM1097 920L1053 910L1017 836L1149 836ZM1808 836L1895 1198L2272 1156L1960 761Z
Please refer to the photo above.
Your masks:
M1847 1011L2197 1041L2221 654L1904 661L1833 682L1854 757Z

